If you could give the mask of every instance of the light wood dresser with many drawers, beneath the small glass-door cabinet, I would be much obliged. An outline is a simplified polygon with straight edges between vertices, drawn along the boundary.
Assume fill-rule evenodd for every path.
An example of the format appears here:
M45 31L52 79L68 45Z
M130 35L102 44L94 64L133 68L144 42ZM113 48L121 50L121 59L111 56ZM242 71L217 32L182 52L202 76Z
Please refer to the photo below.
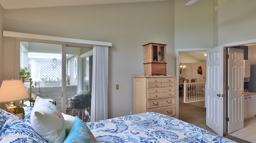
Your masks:
M134 76L134 114L158 112L176 117L176 76Z

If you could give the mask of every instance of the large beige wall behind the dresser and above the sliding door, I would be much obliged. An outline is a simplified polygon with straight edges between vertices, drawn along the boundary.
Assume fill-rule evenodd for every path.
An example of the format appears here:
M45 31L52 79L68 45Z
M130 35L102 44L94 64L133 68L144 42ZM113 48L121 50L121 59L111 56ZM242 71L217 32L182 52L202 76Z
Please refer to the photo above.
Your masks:
M167 74L175 74L174 0L5 10L4 23L7 31L112 42L109 118L133 111L132 76L144 74L142 45L167 44ZM11 44L15 41L5 39L5 49L12 57L6 57L5 63L14 65L15 45ZM6 77L14 74L8 72Z

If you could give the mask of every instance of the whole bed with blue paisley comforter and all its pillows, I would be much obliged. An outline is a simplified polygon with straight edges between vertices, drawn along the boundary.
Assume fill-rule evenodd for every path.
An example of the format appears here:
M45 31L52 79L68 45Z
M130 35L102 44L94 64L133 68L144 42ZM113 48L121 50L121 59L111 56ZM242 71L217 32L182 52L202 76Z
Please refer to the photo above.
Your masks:
M0 142L5 143L236 143L156 112L84 123L40 97L20 119L0 109Z

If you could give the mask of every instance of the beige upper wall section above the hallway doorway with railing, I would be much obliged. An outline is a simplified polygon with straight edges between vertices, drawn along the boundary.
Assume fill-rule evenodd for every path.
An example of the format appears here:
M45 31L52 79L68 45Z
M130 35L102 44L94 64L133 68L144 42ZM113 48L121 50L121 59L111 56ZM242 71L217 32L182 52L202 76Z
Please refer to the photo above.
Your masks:
M213 47L213 0L175 0L175 49Z

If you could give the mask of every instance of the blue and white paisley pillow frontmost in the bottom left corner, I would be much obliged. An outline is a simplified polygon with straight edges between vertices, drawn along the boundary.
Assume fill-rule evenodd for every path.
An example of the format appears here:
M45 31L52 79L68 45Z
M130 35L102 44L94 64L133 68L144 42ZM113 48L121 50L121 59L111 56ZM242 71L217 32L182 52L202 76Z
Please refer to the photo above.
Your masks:
M22 119L8 119L0 130L1 143L47 143Z

